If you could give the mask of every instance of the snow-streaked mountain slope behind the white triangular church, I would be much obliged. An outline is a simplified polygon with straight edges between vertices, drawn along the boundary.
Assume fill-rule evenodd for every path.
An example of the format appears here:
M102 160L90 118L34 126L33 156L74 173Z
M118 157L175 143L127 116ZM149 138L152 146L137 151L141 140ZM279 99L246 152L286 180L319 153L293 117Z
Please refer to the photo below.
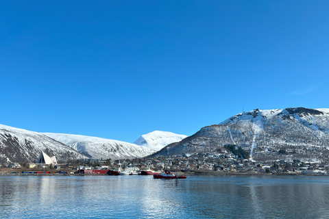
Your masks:
M86 158L42 133L0 125L0 163L36 162L41 151L51 157L55 155L59 163Z

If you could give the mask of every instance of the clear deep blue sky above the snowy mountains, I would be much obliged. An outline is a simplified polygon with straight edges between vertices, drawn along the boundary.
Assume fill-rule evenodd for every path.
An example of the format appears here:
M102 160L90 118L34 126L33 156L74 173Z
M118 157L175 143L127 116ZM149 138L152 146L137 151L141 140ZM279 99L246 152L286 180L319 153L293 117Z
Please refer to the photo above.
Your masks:
M329 1L0 1L0 124L134 142L328 105Z

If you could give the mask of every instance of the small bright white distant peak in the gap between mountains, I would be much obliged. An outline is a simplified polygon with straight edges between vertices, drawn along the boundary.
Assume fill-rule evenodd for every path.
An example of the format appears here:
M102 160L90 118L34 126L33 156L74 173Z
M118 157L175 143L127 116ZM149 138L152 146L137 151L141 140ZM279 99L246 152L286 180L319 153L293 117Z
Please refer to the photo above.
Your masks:
M180 142L186 137L187 136L178 135L169 131L152 131L138 138L134 144L160 151L164 146L173 142Z

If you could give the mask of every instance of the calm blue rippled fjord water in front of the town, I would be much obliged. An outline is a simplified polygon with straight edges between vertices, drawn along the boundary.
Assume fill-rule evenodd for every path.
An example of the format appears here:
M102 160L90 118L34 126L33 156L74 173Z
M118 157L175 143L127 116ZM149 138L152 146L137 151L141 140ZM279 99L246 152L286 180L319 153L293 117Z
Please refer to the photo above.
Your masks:
M0 176L0 218L329 218L329 177Z

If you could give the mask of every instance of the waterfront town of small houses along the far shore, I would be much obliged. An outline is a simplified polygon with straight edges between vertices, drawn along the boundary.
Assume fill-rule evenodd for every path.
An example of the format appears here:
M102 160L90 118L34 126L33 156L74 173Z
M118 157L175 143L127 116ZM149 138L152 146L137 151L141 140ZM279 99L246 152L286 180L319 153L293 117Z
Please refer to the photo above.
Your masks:
M327 175L329 170L329 164L312 160L256 162L233 153L195 153L115 161L111 159L77 159L68 164L1 164L0 175L33 173L74 175L85 173L81 170L114 170L118 168L124 170L132 166L139 171L161 172L166 169L184 175ZM105 172L89 171L89 173L104 174Z

